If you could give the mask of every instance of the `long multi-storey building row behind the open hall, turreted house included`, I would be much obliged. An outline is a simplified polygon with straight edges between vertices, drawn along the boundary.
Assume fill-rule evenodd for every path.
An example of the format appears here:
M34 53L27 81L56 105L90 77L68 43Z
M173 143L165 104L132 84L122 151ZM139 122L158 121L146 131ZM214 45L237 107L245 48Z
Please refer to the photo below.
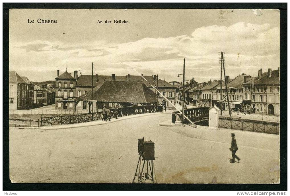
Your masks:
M93 79L93 84L92 84ZM162 93L172 104L176 104L179 89L176 86L166 82L165 80L158 79L157 75L125 75L116 76L112 75L78 75L78 71L74 71L74 75L65 71L59 75L57 70L57 77L55 78L55 108L57 110L88 110L87 101L76 102L77 97L86 94L88 91L98 90L106 81L141 81L146 87L150 88L156 96L158 102L161 103L163 97L150 85L152 84L158 91ZM148 82L147 82L148 81ZM150 84L149 84L150 83ZM108 87L109 88L109 87ZM128 89L129 90L129 89ZM129 93L129 92L128 92ZM77 104L77 105L75 105ZM111 103L112 106L114 103ZM166 103L168 109L173 108L170 103ZM95 106L96 107L96 106Z

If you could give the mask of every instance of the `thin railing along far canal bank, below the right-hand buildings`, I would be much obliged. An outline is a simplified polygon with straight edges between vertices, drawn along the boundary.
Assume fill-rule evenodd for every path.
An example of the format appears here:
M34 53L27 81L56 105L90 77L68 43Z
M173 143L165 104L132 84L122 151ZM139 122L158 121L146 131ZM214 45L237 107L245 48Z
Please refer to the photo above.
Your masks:
M229 117L229 111L223 110L222 115L225 117ZM260 120L260 121L271 121L271 122L280 122L280 116L273 116L267 114L255 114L255 113L247 113L247 112L231 112L231 117L242 118L242 119L252 119L252 120Z

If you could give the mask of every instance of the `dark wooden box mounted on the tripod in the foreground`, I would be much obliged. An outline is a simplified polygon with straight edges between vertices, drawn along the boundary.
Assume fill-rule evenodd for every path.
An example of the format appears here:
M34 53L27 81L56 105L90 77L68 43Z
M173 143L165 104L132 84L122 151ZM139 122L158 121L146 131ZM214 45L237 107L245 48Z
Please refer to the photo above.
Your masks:
M138 139L138 153L144 160L155 160L154 155L154 142L151 140L145 140L144 138Z

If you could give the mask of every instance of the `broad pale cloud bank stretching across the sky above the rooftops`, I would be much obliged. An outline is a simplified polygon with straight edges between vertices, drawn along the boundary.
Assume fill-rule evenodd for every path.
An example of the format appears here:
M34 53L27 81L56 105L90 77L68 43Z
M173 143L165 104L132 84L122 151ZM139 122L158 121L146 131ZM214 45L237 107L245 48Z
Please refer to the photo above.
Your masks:
M191 35L143 38L127 43L105 40L80 45L47 40L13 42L10 43L10 69L25 67L40 73L68 66L68 69L90 74L91 62L94 62L96 73L126 75L128 69L134 67L146 74L164 74L167 80L176 80L176 73L182 73L183 58L186 58L186 77L217 79L218 52L224 51L227 75L235 77L243 72L253 75L260 67L276 69L279 66L279 34L279 28L269 24L239 22L228 27L200 27ZM39 77L47 80L44 78L48 76Z

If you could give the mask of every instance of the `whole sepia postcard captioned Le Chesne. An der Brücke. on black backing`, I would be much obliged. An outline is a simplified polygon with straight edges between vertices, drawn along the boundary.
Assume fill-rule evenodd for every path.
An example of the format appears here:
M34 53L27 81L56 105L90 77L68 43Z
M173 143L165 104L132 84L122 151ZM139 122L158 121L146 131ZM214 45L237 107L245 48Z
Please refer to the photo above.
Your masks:
M12 183L280 183L280 12L11 9Z

